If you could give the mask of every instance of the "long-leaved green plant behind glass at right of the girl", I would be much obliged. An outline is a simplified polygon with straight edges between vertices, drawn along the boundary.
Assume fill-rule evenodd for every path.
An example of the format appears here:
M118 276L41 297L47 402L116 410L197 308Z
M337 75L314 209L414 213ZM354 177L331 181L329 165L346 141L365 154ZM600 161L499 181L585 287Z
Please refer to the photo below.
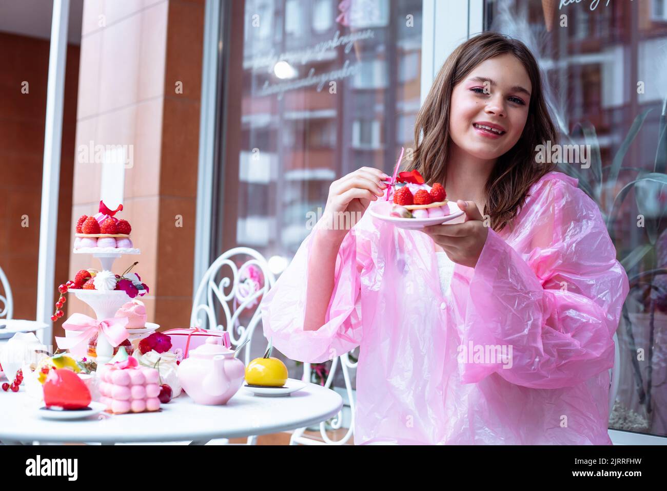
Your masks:
M559 164L559 170L577 178L580 188L600 207L607 229L614 240L614 224L624 200L634 190L637 226L644 228L644 242L620 259L628 274L630 293L623 306L618 329L621 351L620 373L632 370L636 391L629 385L619 388L610 415L610 427L634 432L667 432L667 397L665 389L654 399L653 380L667 377L667 232L660 233L665 213L664 184L667 183L667 134L665 107L660 116L659 138L653 169L623 166L628 148L642 128L651 109L639 114L624 138L612 163L602 166L600 145L593 126L581 124L585 143L590 145L590 168L586 172L570 163ZM564 134L569 144L575 144L570 134ZM621 170L634 172L634 178L620 186ZM605 177L606 174L606 177ZM656 203L657 202L657 203ZM621 252L621 251L619 251ZM662 385L662 383L661 383ZM628 400L618 397L620 394ZM625 404L624 404L625 403ZM654 413L654 410L658 414ZM656 418L657 416L657 418Z

